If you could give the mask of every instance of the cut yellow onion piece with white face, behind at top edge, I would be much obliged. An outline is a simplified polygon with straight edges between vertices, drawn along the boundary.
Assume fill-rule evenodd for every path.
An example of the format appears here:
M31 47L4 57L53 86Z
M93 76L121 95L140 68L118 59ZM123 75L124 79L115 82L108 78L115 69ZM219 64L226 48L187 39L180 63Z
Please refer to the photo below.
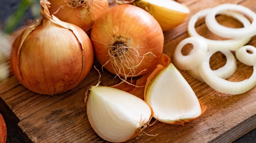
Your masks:
M117 4L130 3L148 11L159 22L163 31L183 23L190 10L174 0L116 0Z

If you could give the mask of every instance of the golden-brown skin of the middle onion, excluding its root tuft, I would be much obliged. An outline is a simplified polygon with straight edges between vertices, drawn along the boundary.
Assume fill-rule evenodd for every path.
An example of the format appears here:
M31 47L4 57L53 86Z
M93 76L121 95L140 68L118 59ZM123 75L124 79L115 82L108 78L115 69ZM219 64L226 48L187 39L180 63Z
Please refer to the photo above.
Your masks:
M136 76L150 71L160 59L163 52L163 32L155 18L145 10L133 5L117 5L107 9L95 21L91 41L97 60L104 65L110 58L106 45L112 45L117 37L129 39L130 46L137 48L139 55L152 52L144 57L143 62L137 68ZM127 42L127 41L125 41ZM139 57L139 61L142 58ZM108 71L117 74L111 62L104 66ZM140 71L145 70L139 74ZM125 69L126 73L129 70ZM123 71L122 71L123 73ZM120 75L121 76L121 75Z

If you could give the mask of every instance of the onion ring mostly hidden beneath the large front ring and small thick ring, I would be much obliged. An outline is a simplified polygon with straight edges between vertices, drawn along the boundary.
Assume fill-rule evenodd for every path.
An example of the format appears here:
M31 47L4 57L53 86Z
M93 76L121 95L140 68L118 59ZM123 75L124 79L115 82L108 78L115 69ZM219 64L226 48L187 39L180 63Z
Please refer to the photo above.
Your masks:
M208 51L207 55L211 57L216 52L218 51L211 49ZM236 71L236 68L237 68L236 57L228 50L223 50L219 52L221 52L224 56L226 56L227 61L223 67L220 67L219 69L212 70L212 71L216 76L223 79L227 79L230 76L232 76ZM187 72L193 78L204 82L198 67L188 70Z

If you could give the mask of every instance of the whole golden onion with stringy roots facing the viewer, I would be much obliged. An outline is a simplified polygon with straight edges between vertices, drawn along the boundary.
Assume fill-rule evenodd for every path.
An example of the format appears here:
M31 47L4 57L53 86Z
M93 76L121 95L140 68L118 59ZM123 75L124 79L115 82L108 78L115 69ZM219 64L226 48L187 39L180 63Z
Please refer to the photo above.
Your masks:
M95 21L91 41L99 63L119 77L152 69L163 52L163 32L155 18L133 5L107 9Z

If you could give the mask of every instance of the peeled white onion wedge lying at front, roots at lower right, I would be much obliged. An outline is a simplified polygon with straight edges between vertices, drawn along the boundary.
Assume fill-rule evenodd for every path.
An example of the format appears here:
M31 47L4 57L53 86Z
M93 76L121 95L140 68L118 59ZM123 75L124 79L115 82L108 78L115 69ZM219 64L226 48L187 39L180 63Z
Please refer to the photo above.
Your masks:
M125 142L139 134L151 118L151 108L140 98L113 88L90 87L87 116L94 131L104 140Z

